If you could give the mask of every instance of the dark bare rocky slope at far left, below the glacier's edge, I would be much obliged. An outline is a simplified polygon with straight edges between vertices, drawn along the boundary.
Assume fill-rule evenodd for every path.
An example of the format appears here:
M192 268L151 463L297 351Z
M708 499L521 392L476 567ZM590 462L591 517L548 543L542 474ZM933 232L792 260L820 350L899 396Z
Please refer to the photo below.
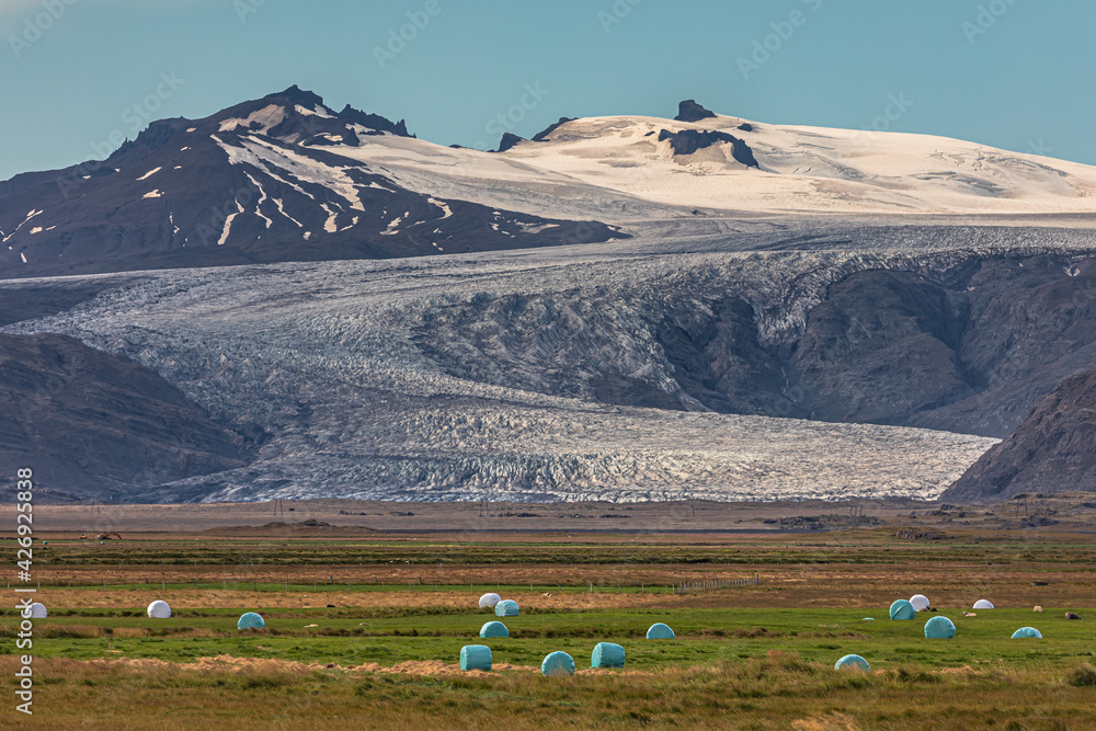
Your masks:
M121 499L241 467L260 435L214 423L128 358L64 335L0 334L0 475L10 482L18 468L33 468L49 500Z

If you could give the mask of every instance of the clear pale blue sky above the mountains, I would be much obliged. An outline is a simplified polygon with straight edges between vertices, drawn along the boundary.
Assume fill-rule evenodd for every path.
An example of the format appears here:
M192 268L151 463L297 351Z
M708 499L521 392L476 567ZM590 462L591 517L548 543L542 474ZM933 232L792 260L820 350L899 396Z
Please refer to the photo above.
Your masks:
M135 104L202 117L294 83L445 145L493 146L523 98L526 137L696 98L1096 164L1094 27L1089 0L0 0L0 180L93 157Z

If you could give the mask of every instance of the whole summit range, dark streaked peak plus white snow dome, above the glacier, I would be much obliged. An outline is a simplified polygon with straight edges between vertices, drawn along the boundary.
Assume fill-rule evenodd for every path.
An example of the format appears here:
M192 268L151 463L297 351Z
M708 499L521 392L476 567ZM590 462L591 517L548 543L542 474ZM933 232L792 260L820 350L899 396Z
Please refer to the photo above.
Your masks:
M1096 213L1096 169L907 134L561 118L501 152L334 112L296 87L153 123L103 162L0 183L3 276L601 243L797 215ZM718 230L718 229L713 229Z

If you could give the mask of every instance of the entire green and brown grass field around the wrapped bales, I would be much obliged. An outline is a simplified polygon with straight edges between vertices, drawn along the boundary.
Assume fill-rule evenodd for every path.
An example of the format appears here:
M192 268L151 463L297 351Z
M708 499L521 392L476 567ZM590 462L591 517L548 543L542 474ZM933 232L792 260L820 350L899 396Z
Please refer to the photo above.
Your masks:
M15 720L39 729L1096 728L1094 559L1092 536L1037 533L676 542L58 535L35 545L36 598L50 616L34 623L35 715ZM486 591L522 605L504 620L511 638L478 638L495 619L477 608ZM891 621L890 602L916 592L937 612ZM998 608L962 616L983 597ZM172 605L171 619L145 616L153 598ZM266 628L238 631L247 610ZM1066 620L1066 610L1083 619ZM955 621L955 639L924 638L933 614ZM12 688L18 621L13 609L0 613L0 672ZM677 639L647 640L655 621ZM1044 639L1009 639L1023 626ZM624 670L589 670L603 640L625 647ZM491 646L493 672L459 671L470 643ZM553 650L575 659L575 676L539 674ZM847 653L872 672L833 671ZM13 715L4 718L8 728Z

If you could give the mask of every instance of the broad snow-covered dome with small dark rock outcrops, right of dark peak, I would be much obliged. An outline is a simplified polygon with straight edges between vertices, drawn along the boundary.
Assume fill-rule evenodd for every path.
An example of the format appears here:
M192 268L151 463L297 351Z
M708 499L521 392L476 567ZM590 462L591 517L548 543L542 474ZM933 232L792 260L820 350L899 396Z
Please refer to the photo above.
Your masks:
M1096 213L1096 169L944 137L778 126L683 102L675 119L560 119L503 152L370 138L331 151L396 180L636 231L651 219L799 214Z

